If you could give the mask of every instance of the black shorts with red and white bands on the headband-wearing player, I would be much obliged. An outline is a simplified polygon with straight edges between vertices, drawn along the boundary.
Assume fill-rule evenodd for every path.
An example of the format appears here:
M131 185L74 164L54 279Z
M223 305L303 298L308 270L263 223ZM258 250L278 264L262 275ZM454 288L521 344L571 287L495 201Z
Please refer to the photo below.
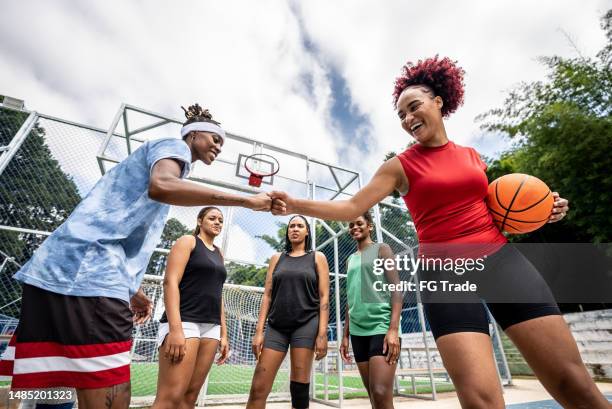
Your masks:
M24 284L19 325L0 361L13 389L105 388L130 380L132 312L108 297Z

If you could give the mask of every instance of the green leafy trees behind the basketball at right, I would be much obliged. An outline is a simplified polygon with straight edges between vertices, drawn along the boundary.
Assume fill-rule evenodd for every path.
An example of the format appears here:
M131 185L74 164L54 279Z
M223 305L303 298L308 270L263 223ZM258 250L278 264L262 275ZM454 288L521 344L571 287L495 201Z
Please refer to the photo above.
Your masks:
M516 141L491 163L490 178L534 175L570 201L565 221L540 232L547 241L612 240L612 10L602 26L608 44L596 58L542 57L546 81L522 84L480 117Z

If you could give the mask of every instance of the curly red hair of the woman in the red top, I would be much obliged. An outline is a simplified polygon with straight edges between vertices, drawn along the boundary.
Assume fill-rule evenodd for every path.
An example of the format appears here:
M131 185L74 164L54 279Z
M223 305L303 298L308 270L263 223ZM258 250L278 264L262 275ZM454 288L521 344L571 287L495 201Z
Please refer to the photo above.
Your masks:
M448 117L463 105L463 68L448 57L419 60L415 65L408 61L402 67L402 75L395 79L393 106L397 108L400 94L411 85L423 85L442 98L442 116Z

